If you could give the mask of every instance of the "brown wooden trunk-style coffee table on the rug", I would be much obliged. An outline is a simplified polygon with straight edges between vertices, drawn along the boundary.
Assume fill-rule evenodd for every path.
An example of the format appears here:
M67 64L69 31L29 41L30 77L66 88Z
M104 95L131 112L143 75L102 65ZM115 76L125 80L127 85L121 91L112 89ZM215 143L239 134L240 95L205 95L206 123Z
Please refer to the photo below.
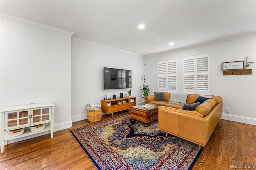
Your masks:
M131 118L137 121L145 123L144 126L147 126L148 123L157 119L157 110L158 105L146 110L142 108L141 105L136 105L131 107Z

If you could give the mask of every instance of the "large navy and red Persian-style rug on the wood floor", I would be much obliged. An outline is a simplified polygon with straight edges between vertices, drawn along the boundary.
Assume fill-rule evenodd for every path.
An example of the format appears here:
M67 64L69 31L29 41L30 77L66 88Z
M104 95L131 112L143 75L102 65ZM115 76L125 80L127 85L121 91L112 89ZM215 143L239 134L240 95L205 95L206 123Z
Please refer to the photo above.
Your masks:
M166 137L157 120L144 127L130 114L70 132L98 170L187 170L200 154L198 145Z

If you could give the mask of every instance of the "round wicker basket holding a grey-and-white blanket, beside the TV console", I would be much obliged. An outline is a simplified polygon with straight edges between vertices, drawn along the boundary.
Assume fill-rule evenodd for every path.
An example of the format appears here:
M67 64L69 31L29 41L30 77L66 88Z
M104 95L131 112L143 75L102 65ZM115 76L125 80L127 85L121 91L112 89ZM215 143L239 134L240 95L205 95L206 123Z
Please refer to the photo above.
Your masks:
M110 103L111 104L111 103ZM98 122L102 117L102 110L100 105L94 103L88 103L86 105L87 119L89 122Z

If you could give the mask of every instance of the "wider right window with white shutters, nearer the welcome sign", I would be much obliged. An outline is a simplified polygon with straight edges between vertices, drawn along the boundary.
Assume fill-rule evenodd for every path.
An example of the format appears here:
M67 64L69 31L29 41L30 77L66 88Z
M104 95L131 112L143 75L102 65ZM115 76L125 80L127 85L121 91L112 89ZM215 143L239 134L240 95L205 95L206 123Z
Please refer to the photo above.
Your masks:
M183 58L184 92L209 91L209 54Z

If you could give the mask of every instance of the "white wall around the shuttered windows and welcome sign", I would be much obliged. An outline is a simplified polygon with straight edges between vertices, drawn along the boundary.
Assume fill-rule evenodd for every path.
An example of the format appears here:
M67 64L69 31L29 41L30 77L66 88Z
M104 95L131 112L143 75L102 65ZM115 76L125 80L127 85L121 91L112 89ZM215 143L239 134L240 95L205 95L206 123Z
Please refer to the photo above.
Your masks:
M224 76L221 70L222 62L241 61L247 55L256 55L256 36L146 57L151 94L158 91L158 61L177 59L177 92L182 93L182 57L202 53L210 53L210 94L223 98L222 119L256 125L256 63L250 66L252 75ZM230 113L225 113L225 108L229 108Z

